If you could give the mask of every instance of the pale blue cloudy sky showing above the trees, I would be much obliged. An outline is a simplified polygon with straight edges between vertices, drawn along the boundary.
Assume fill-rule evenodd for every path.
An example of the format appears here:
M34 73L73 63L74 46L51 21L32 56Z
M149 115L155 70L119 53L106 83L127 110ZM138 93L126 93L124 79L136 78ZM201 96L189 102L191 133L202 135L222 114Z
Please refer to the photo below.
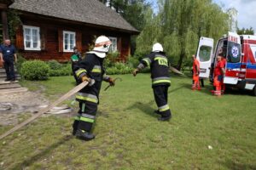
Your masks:
M157 0L146 0L148 3L153 3L154 8L157 7ZM238 11L237 21L239 28L253 27L256 32L256 0L212 0L214 3L218 3L224 10L228 8L236 8Z

